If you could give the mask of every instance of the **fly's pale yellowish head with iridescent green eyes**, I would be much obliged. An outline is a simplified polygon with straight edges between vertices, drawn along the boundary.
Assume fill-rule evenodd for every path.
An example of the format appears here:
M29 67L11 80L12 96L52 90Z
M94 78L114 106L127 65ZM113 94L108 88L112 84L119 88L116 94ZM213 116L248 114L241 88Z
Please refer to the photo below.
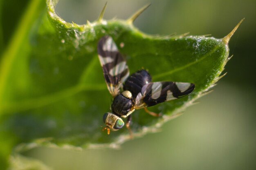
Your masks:
M103 122L107 127L114 131L121 129L124 126L124 121L121 117L110 112L103 115Z

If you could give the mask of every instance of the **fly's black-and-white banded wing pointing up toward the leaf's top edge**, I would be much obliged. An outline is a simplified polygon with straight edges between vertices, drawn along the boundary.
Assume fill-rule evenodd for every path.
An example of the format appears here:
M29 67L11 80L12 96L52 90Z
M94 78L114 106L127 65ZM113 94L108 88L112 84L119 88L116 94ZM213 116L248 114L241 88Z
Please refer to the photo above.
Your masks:
M115 42L110 36L104 36L99 40L98 56L108 91L115 97L119 94L122 84L129 76L126 60L119 53Z

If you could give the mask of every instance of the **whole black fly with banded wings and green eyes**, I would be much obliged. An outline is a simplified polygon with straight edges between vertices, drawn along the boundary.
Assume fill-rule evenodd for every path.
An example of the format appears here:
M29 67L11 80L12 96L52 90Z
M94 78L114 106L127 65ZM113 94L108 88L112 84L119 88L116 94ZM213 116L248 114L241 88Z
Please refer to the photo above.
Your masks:
M126 127L131 133L131 114L135 110L144 108L150 115L159 116L146 107L184 97L195 88L192 83L151 82L146 70L139 70L129 76L126 60L110 36L99 40L97 50L108 91L114 98L111 112L103 115L106 124L103 130L107 130L108 134L110 130L116 131L124 126L122 118L127 118Z

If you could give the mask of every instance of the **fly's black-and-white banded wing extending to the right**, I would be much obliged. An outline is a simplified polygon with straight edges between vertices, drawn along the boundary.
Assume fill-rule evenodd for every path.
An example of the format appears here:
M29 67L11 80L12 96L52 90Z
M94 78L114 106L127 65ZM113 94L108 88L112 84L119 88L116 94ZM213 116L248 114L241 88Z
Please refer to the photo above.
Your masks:
M190 94L195 88L192 83L151 82L145 84L136 97L135 109L178 99Z

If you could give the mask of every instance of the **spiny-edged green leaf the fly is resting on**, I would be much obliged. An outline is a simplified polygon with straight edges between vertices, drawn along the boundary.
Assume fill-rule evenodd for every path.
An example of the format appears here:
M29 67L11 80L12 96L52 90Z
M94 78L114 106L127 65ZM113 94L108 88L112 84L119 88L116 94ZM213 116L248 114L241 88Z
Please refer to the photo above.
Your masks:
M145 35L128 20L99 20L85 25L67 23L54 11L57 0L31 1L27 14L3 54L0 66L0 128L15 136L22 152L31 146L69 148L117 147L130 139L126 128L106 135L102 116L109 111L108 93L97 57L104 35L115 40L126 56L130 72L146 68L153 81L191 82L195 91L182 99L132 114L135 137L155 132L206 94L229 60L228 41L207 36ZM104 11L104 10L103 10Z

